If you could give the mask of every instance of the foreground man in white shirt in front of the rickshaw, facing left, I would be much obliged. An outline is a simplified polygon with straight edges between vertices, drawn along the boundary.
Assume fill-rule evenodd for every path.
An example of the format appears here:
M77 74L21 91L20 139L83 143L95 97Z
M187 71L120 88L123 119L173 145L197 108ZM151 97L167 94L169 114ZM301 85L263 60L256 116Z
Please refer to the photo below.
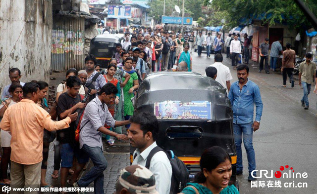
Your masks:
M153 114L142 112L131 116L130 122L128 138L131 146L136 148L132 165L139 164L147 167L155 176L156 189L159 194L169 194L172 166L166 153L158 151L152 156L150 164L147 161L148 157L151 157L149 155L152 150L160 150L156 143L159 134L158 119Z

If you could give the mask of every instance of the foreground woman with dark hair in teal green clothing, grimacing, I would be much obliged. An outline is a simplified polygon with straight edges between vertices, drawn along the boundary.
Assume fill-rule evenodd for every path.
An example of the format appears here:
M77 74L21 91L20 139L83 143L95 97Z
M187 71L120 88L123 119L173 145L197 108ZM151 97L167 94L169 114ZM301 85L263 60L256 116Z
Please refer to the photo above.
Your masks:
M232 175L231 157L218 146L204 151L200 159L201 172L195 176L194 183L188 183L180 194L239 194L230 185Z

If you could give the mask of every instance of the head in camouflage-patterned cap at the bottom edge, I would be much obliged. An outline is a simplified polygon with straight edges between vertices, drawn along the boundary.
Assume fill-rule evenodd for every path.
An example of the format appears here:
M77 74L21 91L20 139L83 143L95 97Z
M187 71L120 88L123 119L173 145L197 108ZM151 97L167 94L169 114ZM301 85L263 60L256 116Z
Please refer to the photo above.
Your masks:
M154 174L141 165L132 165L123 168L115 184L114 194L135 193L159 194L156 190Z

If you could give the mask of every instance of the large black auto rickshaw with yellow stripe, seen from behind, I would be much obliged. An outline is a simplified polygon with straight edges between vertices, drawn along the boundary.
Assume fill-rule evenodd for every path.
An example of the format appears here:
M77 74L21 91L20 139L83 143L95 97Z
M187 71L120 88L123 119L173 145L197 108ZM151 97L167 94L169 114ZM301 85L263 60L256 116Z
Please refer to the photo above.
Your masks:
M229 184L238 188L233 114L221 84L192 72L152 73L140 84L134 111L148 111L157 116L158 146L172 150L186 164L190 180L200 171L200 156L205 149L212 146L225 149L232 159Z

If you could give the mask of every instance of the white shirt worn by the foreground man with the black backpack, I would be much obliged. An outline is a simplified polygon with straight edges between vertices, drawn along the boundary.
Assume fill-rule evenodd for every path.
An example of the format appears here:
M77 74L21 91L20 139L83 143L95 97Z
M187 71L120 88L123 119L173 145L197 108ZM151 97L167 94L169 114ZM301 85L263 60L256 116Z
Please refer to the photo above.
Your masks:
M153 148L157 147L157 143L154 142L151 146L140 153L137 149L134 153L137 153L136 158L134 158L132 165L140 164L142 166L146 165L147 157ZM155 176L155 183L157 185L156 189L159 194L169 194L170 181L172 178L172 166L164 152L158 152L153 155L150 163L149 169Z

